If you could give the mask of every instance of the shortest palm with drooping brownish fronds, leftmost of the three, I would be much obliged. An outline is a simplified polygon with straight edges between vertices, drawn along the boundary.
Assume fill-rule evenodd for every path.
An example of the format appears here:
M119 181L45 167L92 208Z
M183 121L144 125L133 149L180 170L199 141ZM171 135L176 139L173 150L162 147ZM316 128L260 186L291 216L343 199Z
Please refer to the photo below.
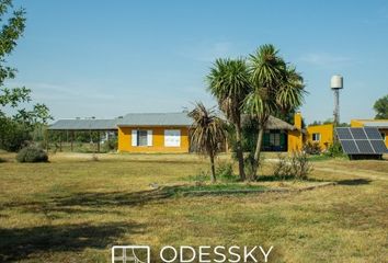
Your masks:
M193 118L191 127L191 146L202 155L210 158L212 182L216 182L216 169L214 159L219 152L219 146L225 142L225 123L216 116L214 108L207 110L203 103L198 102L195 108L189 113Z

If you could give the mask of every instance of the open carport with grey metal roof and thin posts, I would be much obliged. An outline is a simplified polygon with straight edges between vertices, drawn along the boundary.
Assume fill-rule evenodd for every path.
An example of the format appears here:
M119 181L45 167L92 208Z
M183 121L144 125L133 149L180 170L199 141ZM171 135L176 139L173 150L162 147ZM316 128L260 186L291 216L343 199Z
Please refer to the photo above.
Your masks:
M56 123L52 124L47 128L47 145L48 141L48 133L53 132L62 132L66 133L66 141L70 140L70 149L73 150L73 140L75 140L75 133L76 132L89 132L90 134L90 141L93 142L92 133L98 133L98 152L100 152L100 142L101 142L101 134L105 133L107 136L110 133L117 134L117 122L119 119L95 119L95 118L88 118L88 119L59 119ZM59 150L61 151L62 147L62 133L59 135ZM109 138L107 138L109 139Z

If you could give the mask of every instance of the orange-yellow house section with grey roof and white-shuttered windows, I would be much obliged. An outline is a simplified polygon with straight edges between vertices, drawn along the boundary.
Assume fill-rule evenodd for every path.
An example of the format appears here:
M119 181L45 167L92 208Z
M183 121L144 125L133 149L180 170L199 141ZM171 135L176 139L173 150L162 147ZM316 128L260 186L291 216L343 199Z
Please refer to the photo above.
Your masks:
M186 113L127 114L117 121L119 152L189 152Z

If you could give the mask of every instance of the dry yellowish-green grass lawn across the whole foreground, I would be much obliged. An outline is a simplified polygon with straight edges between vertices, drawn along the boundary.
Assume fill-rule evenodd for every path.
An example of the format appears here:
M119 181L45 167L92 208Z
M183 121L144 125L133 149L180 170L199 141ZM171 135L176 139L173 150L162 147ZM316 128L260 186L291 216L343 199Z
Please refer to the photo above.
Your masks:
M115 244L274 247L270 262L387 262L388 161L321 160L312 191L222 196L149 194L208 170L194 155L0 153L0 262L110 262ZM221 156L221 160L228 160ZM273 162L261 170L270 174ZM263 180L247 187L298 187ZM194 187L194 186L187 186ZM210 186L217 188L218 186ZM231 186L236 187L246 186ZM194 190L203 190L194 187Z

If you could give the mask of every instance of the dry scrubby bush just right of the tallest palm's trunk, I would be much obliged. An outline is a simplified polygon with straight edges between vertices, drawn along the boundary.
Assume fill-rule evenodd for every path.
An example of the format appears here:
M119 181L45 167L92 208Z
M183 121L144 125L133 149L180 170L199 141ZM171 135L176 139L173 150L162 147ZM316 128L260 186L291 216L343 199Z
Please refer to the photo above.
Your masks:
M312 167L307 153L295 151L292 157L278 156L278 162L274 168L273 175L282 180L306 180L311 171Z

